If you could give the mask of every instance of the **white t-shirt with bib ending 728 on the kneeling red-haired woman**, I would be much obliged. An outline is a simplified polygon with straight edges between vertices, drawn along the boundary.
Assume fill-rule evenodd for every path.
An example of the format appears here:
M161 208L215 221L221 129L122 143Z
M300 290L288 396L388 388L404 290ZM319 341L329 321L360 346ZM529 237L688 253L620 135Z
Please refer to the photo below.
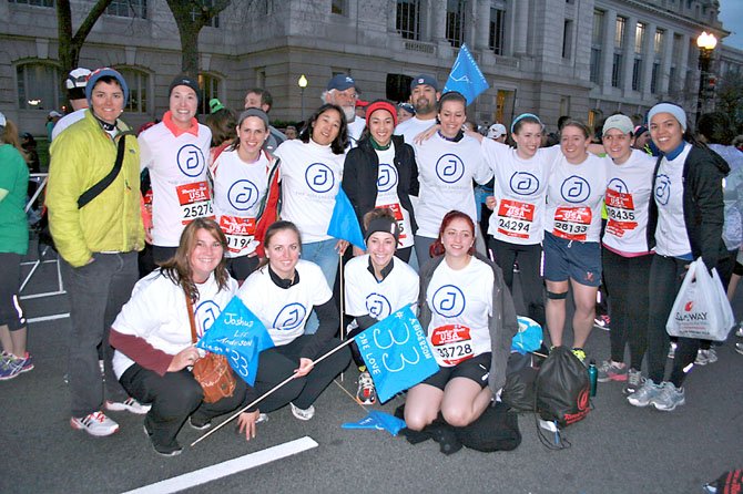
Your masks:
M427 330L439 366L452 367L491 351L493 284L490 266L475 257L464 269L451 269L442 260L434 271L426 290L431 310Z

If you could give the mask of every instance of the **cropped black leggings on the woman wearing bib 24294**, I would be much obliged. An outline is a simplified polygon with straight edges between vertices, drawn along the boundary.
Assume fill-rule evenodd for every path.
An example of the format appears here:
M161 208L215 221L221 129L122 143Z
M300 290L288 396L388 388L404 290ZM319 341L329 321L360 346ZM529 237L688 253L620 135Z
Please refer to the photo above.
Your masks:
M542 248L539 244L518 245L502 241L488 235L488 248L492 250L496 264L503 271L503 280L513 294L513 263L519 261L521 295L527 315L542 328L547 327L544 317L544 281L540 276Z

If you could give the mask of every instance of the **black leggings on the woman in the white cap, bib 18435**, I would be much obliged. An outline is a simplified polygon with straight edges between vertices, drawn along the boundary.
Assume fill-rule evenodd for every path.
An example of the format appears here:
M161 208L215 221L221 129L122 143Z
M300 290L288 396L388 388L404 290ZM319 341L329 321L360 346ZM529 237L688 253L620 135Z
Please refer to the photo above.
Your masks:
M648 348L648 310L650 266L653 256L623 257L602 248L603 281L611 294L611 360L624 361L624 346L630 343L630 364L640 370Z

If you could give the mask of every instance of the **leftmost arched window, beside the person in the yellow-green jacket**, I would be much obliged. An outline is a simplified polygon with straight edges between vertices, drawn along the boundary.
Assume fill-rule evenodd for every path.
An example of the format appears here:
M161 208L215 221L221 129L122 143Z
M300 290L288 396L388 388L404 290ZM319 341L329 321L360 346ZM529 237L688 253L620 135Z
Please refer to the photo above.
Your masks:
M20 110L59 110L64 104L59 69L51 63L26 62L16 66Z

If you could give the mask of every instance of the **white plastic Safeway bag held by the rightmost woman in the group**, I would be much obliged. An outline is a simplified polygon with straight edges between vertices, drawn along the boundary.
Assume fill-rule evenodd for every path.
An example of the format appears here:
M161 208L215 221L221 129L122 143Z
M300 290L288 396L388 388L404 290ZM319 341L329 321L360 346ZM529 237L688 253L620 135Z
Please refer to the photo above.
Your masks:
M672 337L723 341L735 323L720 276L700 257L689 266L665 329Z

